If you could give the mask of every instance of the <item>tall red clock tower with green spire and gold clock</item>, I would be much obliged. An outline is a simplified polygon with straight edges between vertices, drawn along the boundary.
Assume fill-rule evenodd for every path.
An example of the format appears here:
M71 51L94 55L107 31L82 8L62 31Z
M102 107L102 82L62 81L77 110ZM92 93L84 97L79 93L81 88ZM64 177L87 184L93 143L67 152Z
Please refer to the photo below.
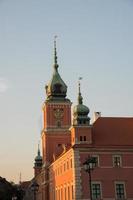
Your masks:
M53 75L46 85L46 100L43 104L42 148L43 162L51 163L63 148L70 145L71 101L66 98L67 86L62 80L57 63L54 41Z

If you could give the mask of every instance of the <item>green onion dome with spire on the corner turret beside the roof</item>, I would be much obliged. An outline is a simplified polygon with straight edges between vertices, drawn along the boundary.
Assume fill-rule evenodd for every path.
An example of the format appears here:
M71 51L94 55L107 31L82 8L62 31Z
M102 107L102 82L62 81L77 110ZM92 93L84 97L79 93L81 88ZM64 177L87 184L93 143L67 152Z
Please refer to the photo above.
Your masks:
M83 105L83 97L81 95L79 82L78 105L74 106L73 109L73 125L89 125L89 112L89 108Z

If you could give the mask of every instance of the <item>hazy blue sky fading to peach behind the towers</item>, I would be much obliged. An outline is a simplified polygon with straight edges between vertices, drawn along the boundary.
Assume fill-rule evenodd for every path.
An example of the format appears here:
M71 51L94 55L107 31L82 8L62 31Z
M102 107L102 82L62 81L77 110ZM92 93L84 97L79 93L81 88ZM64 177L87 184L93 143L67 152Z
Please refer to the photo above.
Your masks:
M0 176L33 176L53 38L68 97L102 116L133 116L132 0L0 0Z

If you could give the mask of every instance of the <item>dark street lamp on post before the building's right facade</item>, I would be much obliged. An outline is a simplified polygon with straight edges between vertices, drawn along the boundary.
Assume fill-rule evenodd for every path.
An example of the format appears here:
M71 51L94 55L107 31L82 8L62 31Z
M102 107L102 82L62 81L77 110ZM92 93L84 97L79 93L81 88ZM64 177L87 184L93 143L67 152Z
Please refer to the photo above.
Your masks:
M84 170L89 174L90 200L92 200L91 171L94 169L95 165L96 165L95 157L88 157L86 161L83 163Z

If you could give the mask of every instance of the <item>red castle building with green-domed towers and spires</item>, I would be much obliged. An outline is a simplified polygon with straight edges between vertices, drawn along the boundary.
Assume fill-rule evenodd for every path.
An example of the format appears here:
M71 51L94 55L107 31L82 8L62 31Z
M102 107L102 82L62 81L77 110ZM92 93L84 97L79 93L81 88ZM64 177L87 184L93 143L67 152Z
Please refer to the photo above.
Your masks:
M67 86L58 72L56 44L52 79L43 104L42 153L35 159L37 200L88 200L89 176L83 163L95 158L91 171L94 200L133 200L133 118L97 117L78 92L71 114Z

